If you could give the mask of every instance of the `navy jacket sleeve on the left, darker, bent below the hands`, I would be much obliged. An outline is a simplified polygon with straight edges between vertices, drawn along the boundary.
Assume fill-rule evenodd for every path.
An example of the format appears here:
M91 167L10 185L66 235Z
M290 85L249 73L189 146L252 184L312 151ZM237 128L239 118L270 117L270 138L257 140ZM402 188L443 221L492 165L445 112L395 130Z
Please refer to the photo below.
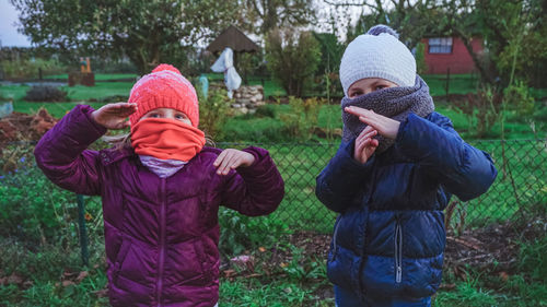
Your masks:
M338 152L316 178L315 194L328 209L344 212L356 203L356 196L370 176L374 155L365 164L353 158L356 140L340 144Z

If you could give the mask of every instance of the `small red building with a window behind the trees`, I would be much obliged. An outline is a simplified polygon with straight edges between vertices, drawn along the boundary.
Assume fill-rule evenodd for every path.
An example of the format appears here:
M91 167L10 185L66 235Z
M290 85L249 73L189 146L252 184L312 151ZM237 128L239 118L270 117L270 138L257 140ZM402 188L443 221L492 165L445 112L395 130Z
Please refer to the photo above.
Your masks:
M429 74L472 73L476 71L472 56L465 48L464 43L457 37L429 37L422 38L426 46L426 63ZM472 40L473 50L481 54L484 50L482 38L476 37Z

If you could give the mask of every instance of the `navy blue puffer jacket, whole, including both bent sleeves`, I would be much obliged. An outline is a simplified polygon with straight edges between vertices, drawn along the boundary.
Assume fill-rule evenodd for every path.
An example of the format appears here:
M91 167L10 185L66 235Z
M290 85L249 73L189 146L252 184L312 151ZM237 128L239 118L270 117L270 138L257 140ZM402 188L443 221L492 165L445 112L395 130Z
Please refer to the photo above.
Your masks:
M427 297L441 283L443 210L466 201L497 176L490 156L465 143L446 117L414 114L395 144L365 164L342 143L317 177L317 198L339 214L327 275L360 297Z

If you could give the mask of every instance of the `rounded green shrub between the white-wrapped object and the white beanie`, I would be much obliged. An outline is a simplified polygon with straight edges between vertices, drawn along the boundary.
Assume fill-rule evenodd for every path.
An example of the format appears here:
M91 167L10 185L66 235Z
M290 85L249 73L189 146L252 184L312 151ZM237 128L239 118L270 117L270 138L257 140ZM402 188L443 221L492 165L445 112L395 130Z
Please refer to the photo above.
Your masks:
M321 61L321 48L310 32L275 29L266 39L266 59L288 95L302 97Z

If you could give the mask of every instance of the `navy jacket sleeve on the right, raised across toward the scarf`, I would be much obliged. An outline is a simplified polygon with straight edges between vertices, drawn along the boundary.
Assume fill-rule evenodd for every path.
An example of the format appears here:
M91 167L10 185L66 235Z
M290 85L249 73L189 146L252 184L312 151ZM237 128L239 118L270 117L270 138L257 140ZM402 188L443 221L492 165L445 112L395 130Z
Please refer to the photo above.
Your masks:
M490 155L467 144L449 118L433 113L429 121L411 114L401 122L395 146L432 172L447 191L467 201L486 192L496 179Z

